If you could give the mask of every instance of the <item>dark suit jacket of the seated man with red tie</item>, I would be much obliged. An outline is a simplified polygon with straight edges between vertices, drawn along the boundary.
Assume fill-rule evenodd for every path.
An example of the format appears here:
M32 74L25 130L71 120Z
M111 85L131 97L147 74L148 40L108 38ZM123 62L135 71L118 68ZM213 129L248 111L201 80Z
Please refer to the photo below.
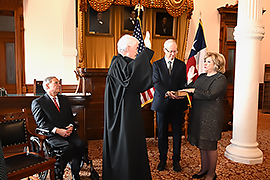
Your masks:
M57 95L57 97L61 113L57 110L47 93L37 99L34 99L31 104L32 113L37 126L48 130L49 134L47 135L52 135L51 132L54 127L65 128L69 124L75 125L68 98L62 95Z

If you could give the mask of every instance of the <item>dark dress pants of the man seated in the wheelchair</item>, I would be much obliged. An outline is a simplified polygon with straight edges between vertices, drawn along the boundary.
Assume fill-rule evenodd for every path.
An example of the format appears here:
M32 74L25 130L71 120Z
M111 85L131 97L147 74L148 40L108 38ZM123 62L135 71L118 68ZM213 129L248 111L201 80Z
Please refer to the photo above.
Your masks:
M64 169L67 163L72 160L71 172L73 175L79 175L81 160L86 153L86 144L80 139L77 133L72 133L71 136L63 138L60 135L55 135L48 138L49 144L53 148L60 148L63 150L62 162L56 162L55 165Z

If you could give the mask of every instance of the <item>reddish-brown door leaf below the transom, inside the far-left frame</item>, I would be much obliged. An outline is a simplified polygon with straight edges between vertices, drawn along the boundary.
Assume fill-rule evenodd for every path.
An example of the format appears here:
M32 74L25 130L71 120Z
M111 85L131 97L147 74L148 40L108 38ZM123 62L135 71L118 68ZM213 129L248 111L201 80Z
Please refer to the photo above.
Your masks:
M16 65L15 65L15 33L0 32L0 87L8 94L15 94Z

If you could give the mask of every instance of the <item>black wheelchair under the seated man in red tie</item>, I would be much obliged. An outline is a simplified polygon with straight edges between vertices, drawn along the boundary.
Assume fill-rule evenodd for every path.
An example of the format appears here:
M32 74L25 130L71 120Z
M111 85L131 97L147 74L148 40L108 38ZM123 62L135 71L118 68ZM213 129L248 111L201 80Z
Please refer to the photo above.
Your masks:
M40 128L36 128L36 133L40 133L40 132L46 132L47 130L43 130ZM30 141L31 141L31 148L32 151L39 153L41 151L41 149L43 149L44 151L44 155L45 157L51 157L51 158L55 158L57 161L62 161L62 155L63 155L63 151L62 149L56 149L56 148L52 148L50 146L50 144L47 142L47 140L45 139L43 141L43 143L41 144L41 141L38 137L36 136L32 136L30 137ZM87 166L90 165L90 178L92 180L98 180L99 179L99 174L95 171L94 167L93 167L93 162L92 160L89 160L88 158L88 148L87 146L86 148L86 153L84 154L84 156L82 157L82 161L81 161L81 168L83 167L84 163L86 163ZM71 161L68 163L68 166L71 167ZM62 168L62 167L61 167ZM63 177L63 174L61 171L61 168L55 166L55 173L56 175L60 175ZM40 180L45 180L47 175L48 175L49 170L43 171L41 173L38 174L38 177ZM60 177L56 176L56 180L60 179Z

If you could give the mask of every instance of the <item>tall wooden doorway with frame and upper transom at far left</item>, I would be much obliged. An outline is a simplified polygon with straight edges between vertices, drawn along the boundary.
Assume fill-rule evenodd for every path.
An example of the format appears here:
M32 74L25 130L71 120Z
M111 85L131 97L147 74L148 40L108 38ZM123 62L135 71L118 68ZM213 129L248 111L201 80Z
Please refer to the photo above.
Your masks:
M26 92L23 0L0 0L0 17L0 87L8 94L22 94Z

